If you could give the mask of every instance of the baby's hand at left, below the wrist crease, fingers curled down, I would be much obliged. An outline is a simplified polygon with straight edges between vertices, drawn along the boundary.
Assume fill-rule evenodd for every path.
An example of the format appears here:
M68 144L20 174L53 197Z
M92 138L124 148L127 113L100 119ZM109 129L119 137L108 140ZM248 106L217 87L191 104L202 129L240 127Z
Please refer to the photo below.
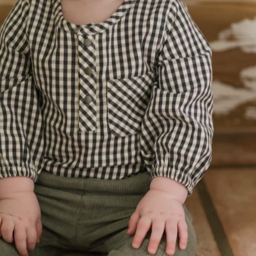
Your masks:
M33 251L42 233L41 212L33 191L8 193L0 200L0 237L15 241L21 256Z

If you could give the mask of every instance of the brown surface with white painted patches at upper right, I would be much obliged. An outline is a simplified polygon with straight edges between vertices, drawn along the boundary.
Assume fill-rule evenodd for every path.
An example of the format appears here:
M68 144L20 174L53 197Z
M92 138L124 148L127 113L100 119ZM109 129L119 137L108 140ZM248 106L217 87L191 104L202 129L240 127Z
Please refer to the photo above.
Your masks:
M215 133L256 132L256 2L185 3L212 49Z

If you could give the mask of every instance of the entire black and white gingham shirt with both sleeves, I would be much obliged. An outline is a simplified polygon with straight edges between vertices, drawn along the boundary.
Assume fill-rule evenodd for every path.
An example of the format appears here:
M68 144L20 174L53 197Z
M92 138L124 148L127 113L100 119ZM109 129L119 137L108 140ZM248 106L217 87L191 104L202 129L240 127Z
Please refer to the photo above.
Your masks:
M0 177L147 169L189 196L211 161L211 81L181 0L124 0L88 25L66 21L60 0L19 0L0 28Z

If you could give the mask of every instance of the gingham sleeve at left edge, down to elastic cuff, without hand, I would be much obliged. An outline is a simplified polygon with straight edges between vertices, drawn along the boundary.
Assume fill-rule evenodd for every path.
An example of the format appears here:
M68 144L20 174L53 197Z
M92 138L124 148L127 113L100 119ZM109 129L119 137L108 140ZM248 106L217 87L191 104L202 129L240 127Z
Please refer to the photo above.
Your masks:
M36 181L44 127L26 32L29 0L19 0L0 28L0 178Z

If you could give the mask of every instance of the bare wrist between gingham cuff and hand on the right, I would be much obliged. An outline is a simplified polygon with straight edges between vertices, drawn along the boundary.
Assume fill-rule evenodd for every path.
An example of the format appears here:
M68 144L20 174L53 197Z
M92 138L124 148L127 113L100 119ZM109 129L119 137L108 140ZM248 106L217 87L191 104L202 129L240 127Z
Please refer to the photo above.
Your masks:
M181 204L185 202L188 193L188 190L184 185L167 177L153 178L150 184L150 189L156 189L172 194Z

